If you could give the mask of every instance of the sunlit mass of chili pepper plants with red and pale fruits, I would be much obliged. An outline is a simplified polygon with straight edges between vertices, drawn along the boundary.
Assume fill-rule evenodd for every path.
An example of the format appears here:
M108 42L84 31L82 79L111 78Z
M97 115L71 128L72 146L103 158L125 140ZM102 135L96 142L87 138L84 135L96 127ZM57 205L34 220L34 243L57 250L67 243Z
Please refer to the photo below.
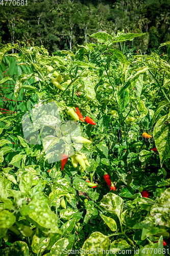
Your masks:
M114 48L139 36L0 49L2 256L169 255L170 42Z

